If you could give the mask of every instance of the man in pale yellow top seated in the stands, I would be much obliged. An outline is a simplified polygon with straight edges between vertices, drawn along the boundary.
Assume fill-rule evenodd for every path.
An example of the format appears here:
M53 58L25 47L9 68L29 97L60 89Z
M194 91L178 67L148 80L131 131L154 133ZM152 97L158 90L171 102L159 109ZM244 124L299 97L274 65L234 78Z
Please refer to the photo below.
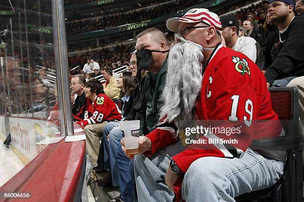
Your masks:
M103 89L104 93L113 101L119 101L120 89L117 88L117 80L113 77L111 68L103 68L103 78L106 81Z

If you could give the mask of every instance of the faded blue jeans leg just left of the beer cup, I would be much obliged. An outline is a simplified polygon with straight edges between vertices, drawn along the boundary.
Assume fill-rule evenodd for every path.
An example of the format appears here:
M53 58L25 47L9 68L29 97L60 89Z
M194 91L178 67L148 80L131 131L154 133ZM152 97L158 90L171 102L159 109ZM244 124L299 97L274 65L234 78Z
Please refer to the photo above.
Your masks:
M122 139L122 132L118 127L118 122L107 123L103 129L103 156L104 169L111 170L112 182L114 187L119 186L118 166L116 164L116 152L121 148L120 140ZM109 135L109 141L107 136Z

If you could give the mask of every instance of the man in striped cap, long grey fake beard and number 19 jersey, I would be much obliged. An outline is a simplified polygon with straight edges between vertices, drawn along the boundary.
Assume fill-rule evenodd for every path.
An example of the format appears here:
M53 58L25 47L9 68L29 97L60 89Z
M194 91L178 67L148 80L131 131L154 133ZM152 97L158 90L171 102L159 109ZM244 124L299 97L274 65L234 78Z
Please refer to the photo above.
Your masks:
M139 202L172 202L174 196L175 201L232 202L243 193L270 187L282 175L286 155L270 160L270 154L248 148L253 136L268 126L254 130L253 120L274 120L271 135L282 130L263 73L246 55L221 45L220 18L208 9L191 9L166 25L180 42L168 54L159 123L141 137L135 155ZM183 120L192 123L182 128ZM208 126L212 120L241 124L241 133L207 132L189 139L188 129L198 120L210 121ZM228 137L238 143L209 141ZM126 152L124 146L122 150Z

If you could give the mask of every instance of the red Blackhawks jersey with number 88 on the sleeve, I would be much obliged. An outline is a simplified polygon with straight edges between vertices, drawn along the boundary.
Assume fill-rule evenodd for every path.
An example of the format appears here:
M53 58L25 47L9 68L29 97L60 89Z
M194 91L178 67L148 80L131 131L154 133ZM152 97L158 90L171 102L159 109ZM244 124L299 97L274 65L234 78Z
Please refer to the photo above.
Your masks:
M87 99L84 119L77 121L82 128L88 124L122 119L121 110L108 96L99 94L95 100Z

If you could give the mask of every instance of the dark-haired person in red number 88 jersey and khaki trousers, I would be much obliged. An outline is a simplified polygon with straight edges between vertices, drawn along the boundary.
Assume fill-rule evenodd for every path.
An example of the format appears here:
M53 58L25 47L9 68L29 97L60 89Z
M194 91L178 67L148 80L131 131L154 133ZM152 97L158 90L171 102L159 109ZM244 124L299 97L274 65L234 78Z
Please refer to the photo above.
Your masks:
M120 120L122 115L115 102L104 95L103 87L97 79L85 83L84 95L87 99L84 119L76 123L84 130L86 151L93 165L96 165L103 127L109 121Z

